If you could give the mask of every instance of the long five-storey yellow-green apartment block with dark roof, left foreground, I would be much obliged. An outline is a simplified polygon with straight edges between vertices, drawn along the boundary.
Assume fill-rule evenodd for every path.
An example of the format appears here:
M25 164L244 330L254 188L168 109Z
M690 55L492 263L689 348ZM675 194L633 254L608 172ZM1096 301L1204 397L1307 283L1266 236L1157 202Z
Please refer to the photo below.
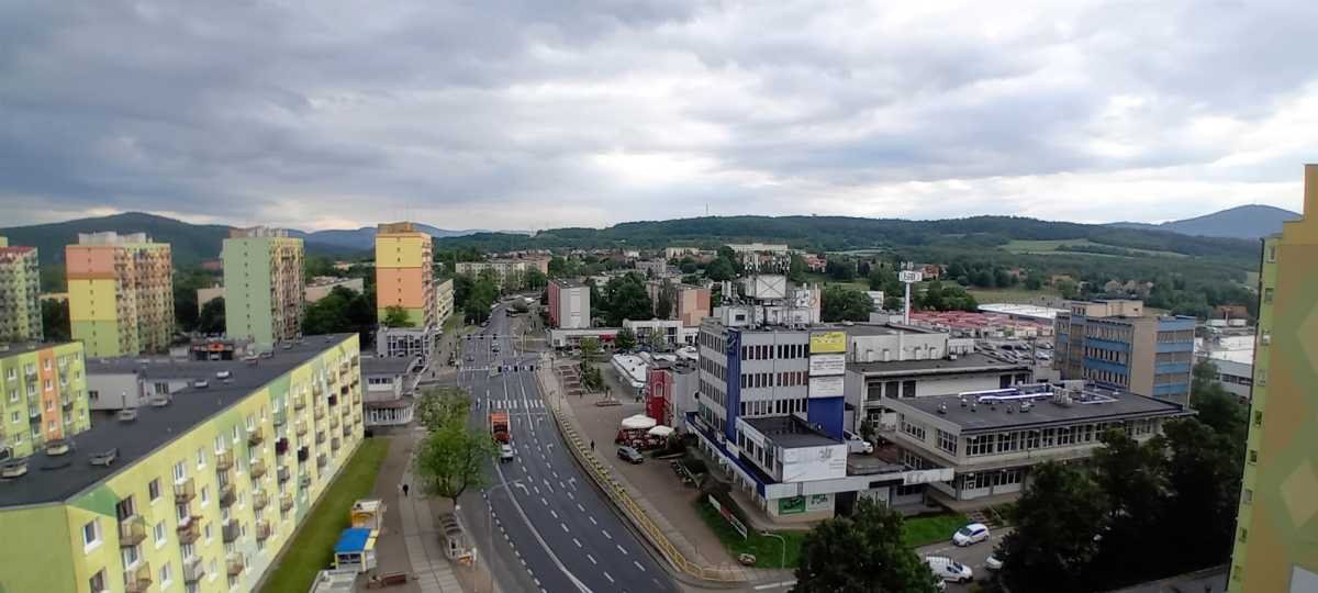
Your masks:
M357 335L327 340L174 365L211 381L0 465L0 589L256 590L361 443Z

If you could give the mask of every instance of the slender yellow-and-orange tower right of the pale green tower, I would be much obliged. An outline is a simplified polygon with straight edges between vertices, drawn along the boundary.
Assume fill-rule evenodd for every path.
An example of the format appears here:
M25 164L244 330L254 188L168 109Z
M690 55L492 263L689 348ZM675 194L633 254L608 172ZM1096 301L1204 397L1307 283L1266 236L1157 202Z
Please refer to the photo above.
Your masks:
M390 307L407 312L413 327L438 325L431 236L413 223L381 224L376 231L376 307L380 322Z

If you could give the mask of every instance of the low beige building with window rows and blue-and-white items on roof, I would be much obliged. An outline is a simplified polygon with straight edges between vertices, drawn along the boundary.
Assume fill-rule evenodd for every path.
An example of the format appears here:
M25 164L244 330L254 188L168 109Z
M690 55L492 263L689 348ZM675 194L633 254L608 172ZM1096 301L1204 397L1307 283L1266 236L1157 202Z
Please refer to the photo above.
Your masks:
M898 415L899 430L888 439L900 461L954 473L929 482L929 494L945 501L1017 493L1033 465L1086 459L1104 431L1144 441L1161 432L1164 422L1193 414L1172 402L1081 381L886 405Z

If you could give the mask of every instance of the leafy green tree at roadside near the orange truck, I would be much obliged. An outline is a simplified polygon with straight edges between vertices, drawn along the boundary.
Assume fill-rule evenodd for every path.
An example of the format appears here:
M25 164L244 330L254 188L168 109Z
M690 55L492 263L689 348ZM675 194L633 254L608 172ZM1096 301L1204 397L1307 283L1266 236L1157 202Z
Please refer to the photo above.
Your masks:
M477 432L465 422L447 422L426 435L413 460L413 472L420 490L444 497L457 506L457 498L469 488L486 484L486 466L498 455L490 435Z

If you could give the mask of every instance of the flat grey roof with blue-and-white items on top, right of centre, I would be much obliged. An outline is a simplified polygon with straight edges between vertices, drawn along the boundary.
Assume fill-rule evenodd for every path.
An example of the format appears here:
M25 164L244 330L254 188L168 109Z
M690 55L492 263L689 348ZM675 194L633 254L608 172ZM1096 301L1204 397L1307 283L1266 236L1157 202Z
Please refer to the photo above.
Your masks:
M1185 411L1181 406L1160 399L1136 395L1130 391L1111 391L1094 386L1086 386L1089 395L1101 395L1094 403L1073 401L1070 405L1054 403L1050 398L1036 399L1029 411L1019 411L1019 401L1014 405L1006 402L990 407L987 403L975 403L975 397L966 397L966 406L961 406L961 395L933 395L907 399L886 399L896 411L903 411L903 406L909 406L917 411L937 416L961 427L961 434L996 431L1002 428L1073 424L1083 420L1131 419L1147 416L1181 416L1193 412ZM945 410L940 414L940 409ZM1014 411L1008 411L1014 410Z

